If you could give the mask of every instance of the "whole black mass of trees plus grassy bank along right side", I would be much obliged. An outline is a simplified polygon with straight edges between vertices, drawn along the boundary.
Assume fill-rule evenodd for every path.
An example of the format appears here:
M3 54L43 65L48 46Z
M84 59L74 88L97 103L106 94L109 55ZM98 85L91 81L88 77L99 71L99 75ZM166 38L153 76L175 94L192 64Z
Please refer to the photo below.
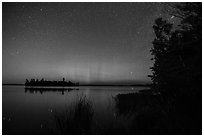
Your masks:
M202 134L202 3L168 4L179 22L155 20L150 90L116 96L130 134Z

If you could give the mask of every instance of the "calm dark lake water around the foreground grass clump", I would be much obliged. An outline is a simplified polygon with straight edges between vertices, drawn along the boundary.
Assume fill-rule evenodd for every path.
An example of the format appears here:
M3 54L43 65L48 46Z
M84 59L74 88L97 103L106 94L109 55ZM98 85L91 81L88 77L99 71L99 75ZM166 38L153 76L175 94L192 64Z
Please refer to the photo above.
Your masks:
M69 92L25 90L24 86L2 87L3 134L58 134L55 116L66 114L80 97L93 109L92 131L100 134L111 125L128 127L131 118L117 116L114 97L147 87L78 87ZM52 131L52 132L51 132ZM99 132L98 132L99 131ZM54 132L54 133L53 133Z

